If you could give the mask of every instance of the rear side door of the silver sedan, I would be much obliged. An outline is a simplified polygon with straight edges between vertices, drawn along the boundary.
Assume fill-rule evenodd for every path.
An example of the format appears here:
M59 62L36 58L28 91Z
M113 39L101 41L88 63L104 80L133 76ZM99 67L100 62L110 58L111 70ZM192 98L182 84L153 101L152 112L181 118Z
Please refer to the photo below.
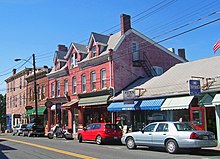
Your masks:
M168 136L169 125L159 123L154 132L152 132L152 144L154 146L164 147L164 140Z

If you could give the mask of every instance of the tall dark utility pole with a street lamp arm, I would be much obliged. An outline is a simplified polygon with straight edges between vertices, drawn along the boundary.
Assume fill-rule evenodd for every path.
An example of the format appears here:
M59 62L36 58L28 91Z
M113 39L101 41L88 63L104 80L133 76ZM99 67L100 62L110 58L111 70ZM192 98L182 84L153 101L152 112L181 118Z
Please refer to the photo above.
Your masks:
M37 83L36 83L37 80L36 80L35 54L33 54L32 56L33 56L33 69L34 69L34 98L35 98L35 111L36 111L35 121L39 122L38 121L38 107L37 107ZM29 62L25 59L15 59L15 61L21 61L21 60Z

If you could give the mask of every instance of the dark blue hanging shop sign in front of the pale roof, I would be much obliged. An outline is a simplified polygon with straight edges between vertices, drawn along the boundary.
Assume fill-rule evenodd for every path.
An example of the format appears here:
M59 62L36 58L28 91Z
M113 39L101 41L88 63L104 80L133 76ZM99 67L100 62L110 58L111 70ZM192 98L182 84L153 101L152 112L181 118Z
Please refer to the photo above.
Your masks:
M191 96L199 96L200 93L200 80L189 80L189 94Z

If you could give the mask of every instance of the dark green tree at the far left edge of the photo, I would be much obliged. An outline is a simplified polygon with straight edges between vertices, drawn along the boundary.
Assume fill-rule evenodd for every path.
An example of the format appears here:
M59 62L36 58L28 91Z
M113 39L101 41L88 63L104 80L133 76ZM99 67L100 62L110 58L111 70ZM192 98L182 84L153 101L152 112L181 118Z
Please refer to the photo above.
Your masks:
M0 94L0 130L6 126L6 95Z

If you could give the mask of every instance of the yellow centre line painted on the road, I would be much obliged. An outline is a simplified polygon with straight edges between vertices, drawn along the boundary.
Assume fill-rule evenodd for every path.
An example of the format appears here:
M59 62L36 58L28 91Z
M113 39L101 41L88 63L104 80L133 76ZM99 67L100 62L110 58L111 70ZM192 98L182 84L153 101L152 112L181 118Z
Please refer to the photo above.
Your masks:
M59 149L55 149L55 148L52 148L52 147L32 144L32 143L28 143L28 142L24 142L24 141L13 140L13 139L9 139L9 138L0 138L0 140L7 140L7 141L11 141L11 142L20 143L20 144L30 145L30 146L34 146L34 147L37 147L37 148L41 148L41 149L45 149L45 150L49 150L49 151L53 151L53 152L58 152L58 153L61 153L61 154L74 156L74 157L78 157L78 158L82 158L82 159L97 159L97 158L94 158L94 157L91 157L91 156L86 156L86 155L77 154L77 153L73 153L73 152L69 152L69 151L59 150Z

